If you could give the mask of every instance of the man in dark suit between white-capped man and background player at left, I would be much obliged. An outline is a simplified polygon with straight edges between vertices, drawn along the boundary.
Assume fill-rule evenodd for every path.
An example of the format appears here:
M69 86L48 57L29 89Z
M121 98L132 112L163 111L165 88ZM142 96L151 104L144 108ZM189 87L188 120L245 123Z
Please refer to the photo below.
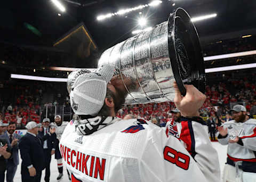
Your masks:
M38 136L43 138L47 133L50 131L50 119L49 118L44 118L43 119L43 128L38 131ZM44 159L45 159L45 177L44 180L45 182L50 181L50 163L51 159L54 153L55 153L55 146L56 144L56 135L51 135L50 138L46 139L43 143L43 148L44 148Z

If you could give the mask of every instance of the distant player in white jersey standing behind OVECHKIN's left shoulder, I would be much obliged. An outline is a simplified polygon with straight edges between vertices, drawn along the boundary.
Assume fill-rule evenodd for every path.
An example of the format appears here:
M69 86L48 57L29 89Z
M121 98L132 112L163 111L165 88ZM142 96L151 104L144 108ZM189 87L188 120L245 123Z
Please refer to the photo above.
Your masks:
M56 151L55 151L55 159L57 159L57 164L58 164L58 171L59 171L59 176L57 177L57 180L59 180L63 176L63 164L62 164L62 156L60 154L59 150L59 142L61 135L63 131L65 130L66 126L68 125L68 121L62 121L60 115L55 115L54 117L54 123L53 127L56 128L55 134L56 134Z

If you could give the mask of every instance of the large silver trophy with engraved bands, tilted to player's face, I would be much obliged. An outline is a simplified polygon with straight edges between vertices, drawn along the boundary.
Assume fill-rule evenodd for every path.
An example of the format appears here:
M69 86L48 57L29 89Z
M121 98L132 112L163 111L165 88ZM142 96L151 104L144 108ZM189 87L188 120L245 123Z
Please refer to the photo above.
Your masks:
M173 82L182 95L185 84L204 93L205 69L197 31L188 13L178 8L169 20L128 38L102 53L98 67L113 65L128 93L125 104L174 100ZM129 80L129 81L127 81Z

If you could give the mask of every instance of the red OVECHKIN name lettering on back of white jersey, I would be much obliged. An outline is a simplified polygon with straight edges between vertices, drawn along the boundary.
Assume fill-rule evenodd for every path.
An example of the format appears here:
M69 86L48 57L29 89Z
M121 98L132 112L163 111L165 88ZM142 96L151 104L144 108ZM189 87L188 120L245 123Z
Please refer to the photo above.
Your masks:
M62 144L60 144L60 153L66 164L79 171L81 175L105 181L106 166L109 161L108 156L85 154Z

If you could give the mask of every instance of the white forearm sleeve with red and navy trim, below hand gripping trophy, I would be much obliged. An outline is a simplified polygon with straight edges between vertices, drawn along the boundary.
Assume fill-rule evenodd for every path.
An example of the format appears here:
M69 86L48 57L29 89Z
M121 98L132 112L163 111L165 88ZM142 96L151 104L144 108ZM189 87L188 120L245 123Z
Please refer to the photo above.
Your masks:
M197 162L207 181L220 181L218 153L213 148L205 121L200 117L181 118L180 141Z

